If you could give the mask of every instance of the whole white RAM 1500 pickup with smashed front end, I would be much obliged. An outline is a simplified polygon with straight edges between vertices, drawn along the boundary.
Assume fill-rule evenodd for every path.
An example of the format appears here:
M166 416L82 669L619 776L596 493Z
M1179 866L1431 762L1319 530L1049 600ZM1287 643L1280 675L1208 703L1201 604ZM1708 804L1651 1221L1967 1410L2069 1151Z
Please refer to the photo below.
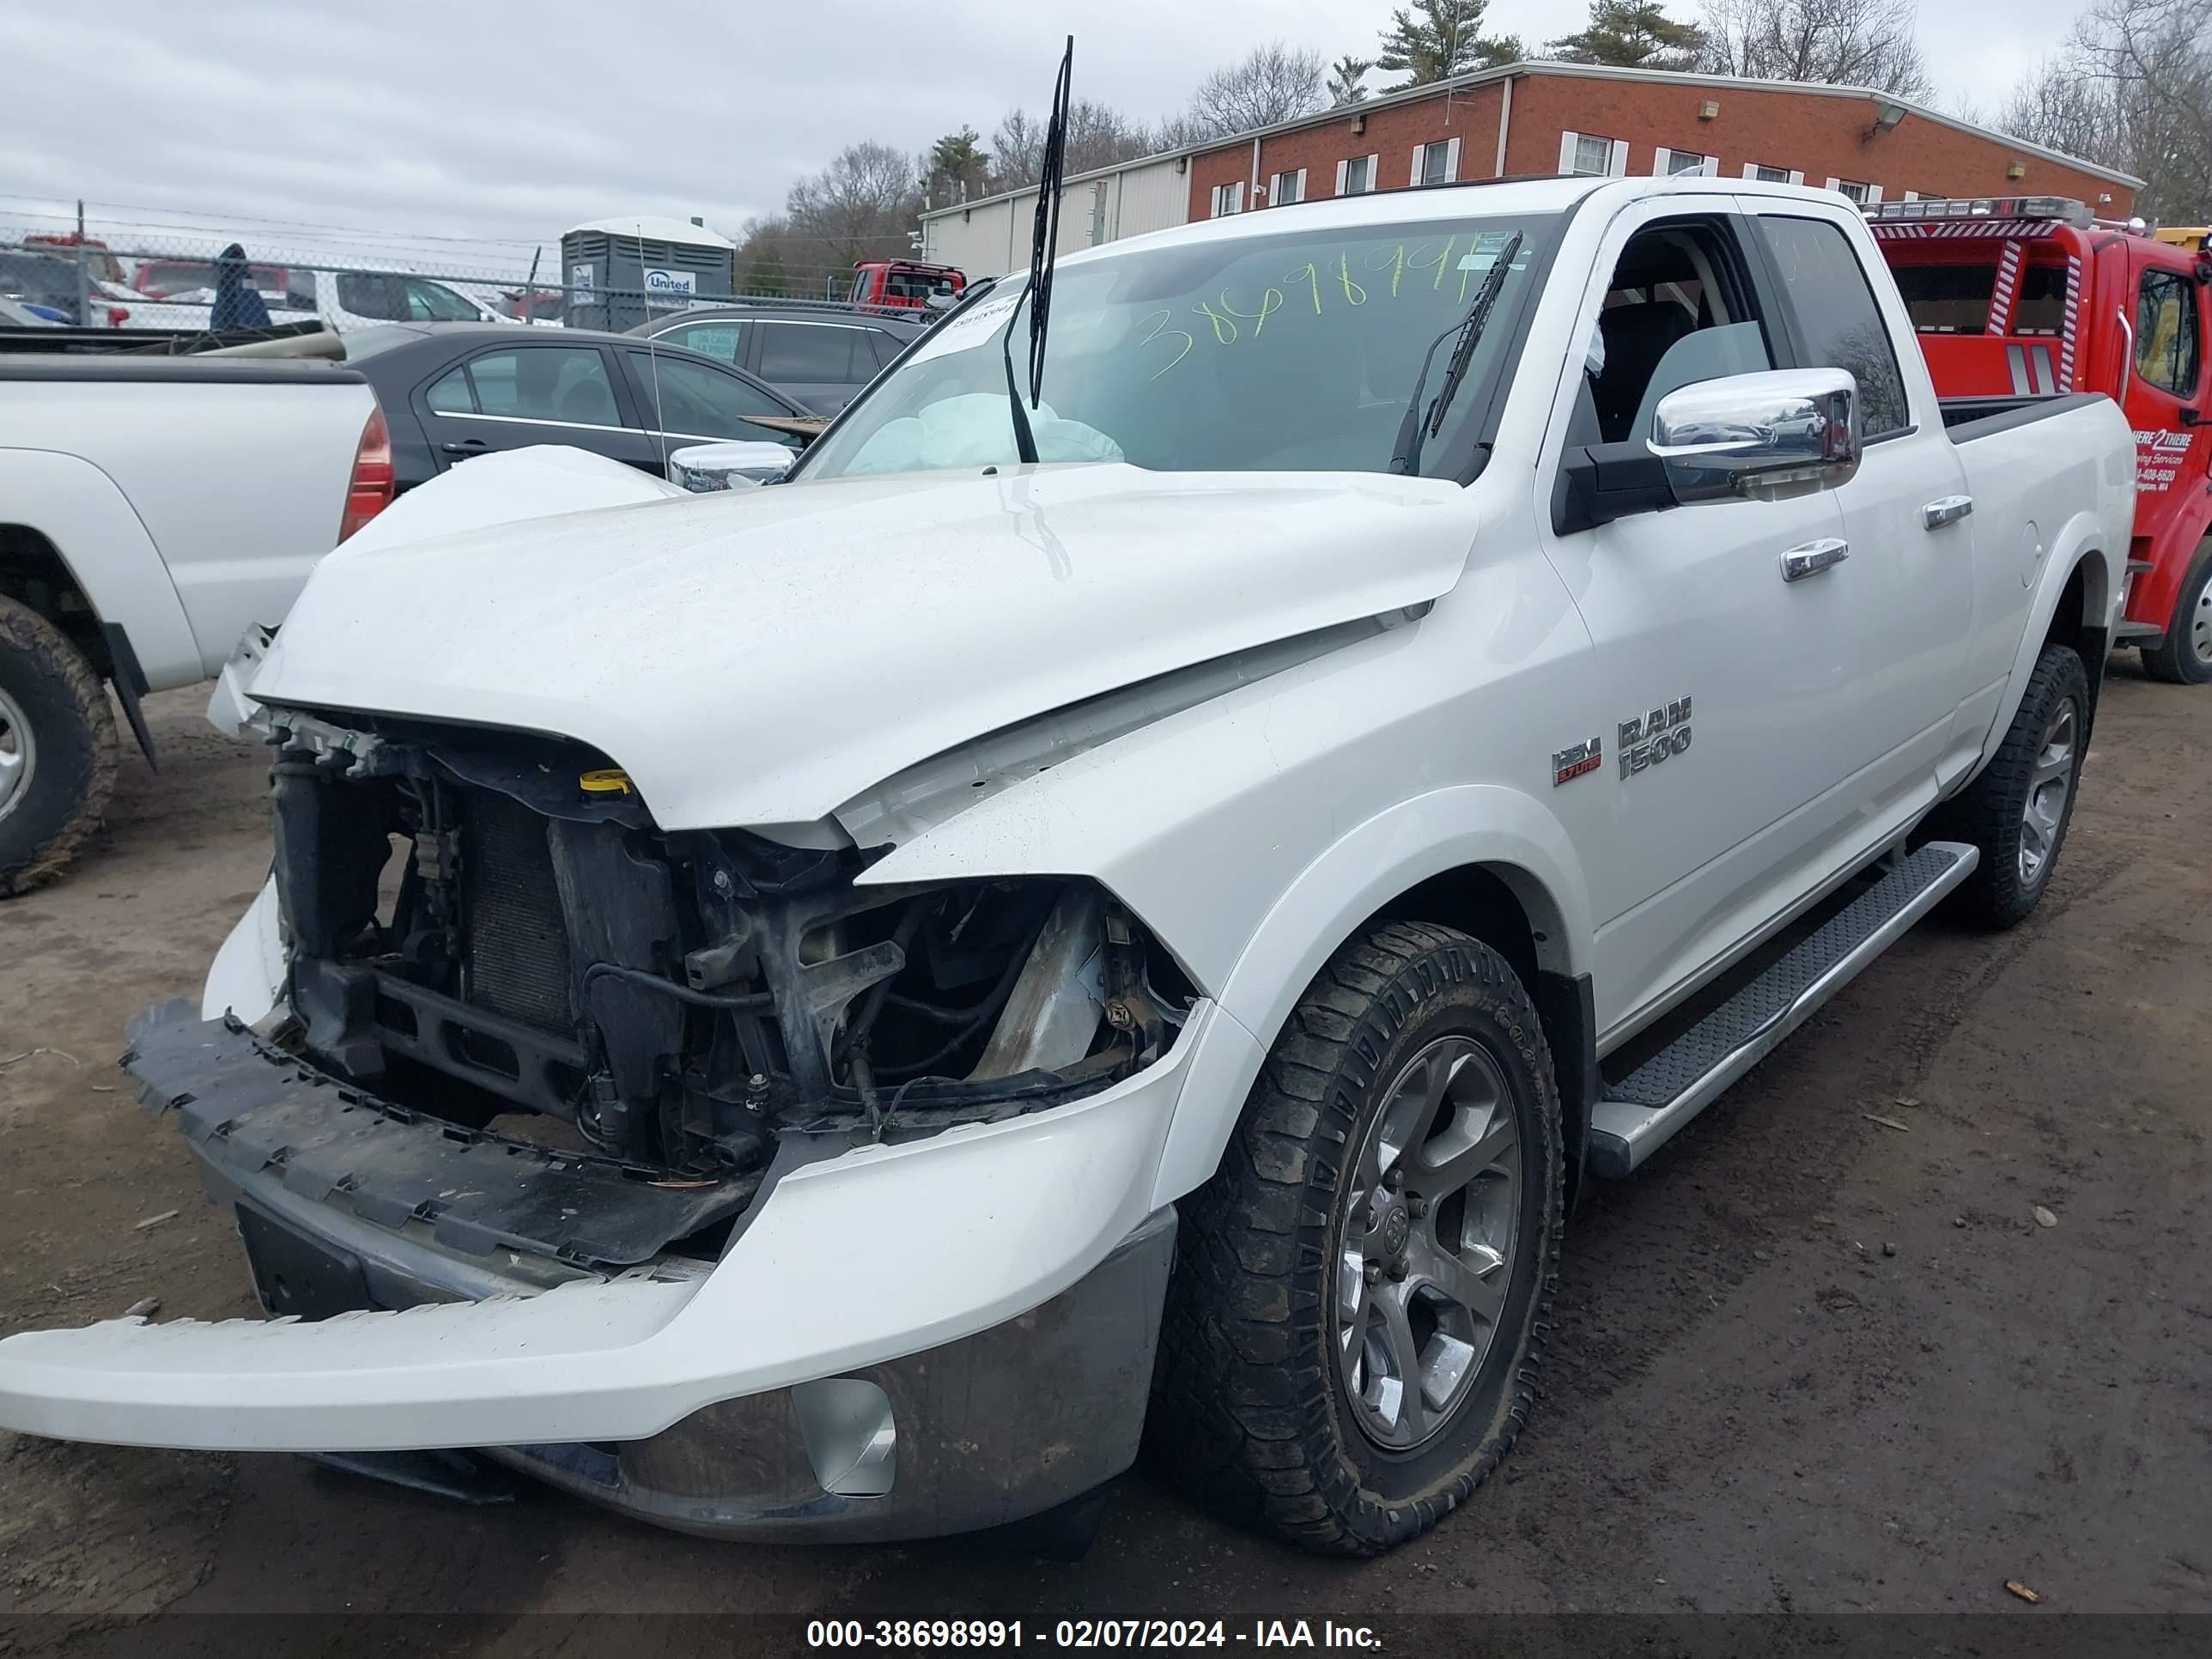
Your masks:
M2048 889L2128 422L1947 427L1840 197L1217 219L1066 259L1015 420L1026 354L1009 283L785 482L482 473L316 571L272 885L126 1057L299 1318L11 1336L0 1425L730 1537L1148 1429L1380 1551L1517 1436L1588 1175Z

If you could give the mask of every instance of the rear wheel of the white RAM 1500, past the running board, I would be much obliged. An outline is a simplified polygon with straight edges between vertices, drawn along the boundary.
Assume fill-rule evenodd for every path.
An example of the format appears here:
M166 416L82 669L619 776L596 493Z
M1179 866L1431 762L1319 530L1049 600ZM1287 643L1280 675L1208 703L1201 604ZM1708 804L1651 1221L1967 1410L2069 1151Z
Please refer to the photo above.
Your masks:
M2068 646L2044 646L1995 759L1947 812L1953 832L1982 849L1958 889L1982 922L2013 927L2042 900L2086 748L2088 675Z

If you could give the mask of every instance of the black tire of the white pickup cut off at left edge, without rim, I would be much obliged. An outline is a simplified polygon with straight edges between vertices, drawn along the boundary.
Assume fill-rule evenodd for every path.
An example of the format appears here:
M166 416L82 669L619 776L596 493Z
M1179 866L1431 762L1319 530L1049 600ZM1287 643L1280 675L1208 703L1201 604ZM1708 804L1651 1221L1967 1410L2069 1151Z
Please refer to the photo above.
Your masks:
M31 776L0 812L0 898L53 880L100 830L115 794L108 688L29 606L0 599L0 690L31 726Z

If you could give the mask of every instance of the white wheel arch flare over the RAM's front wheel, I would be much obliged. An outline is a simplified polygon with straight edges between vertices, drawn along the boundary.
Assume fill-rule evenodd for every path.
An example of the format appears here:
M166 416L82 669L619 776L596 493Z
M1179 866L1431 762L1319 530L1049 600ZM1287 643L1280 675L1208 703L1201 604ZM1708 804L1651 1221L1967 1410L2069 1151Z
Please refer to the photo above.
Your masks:
M1467 865L1491 867L1513 889L1546 969L1588 971L1588 885L1566 830L1537 801L1498 783L1464 783L1378 812L1298 874L1230 969L1219 998L1228 1020L1217 1020L1192 1055L1159 1155L1155 1206L1219 1168L1276 1031L1336 947L1407 889Z

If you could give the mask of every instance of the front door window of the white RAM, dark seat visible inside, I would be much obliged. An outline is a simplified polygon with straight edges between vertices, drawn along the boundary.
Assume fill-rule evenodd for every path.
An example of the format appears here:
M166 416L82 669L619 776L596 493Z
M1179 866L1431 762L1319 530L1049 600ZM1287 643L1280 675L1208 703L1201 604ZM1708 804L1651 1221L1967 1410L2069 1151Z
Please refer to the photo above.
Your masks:
M1734 241L1694 221L1648 226L1606 283L1566 442L1644 438L1668 392L1772 367Z

